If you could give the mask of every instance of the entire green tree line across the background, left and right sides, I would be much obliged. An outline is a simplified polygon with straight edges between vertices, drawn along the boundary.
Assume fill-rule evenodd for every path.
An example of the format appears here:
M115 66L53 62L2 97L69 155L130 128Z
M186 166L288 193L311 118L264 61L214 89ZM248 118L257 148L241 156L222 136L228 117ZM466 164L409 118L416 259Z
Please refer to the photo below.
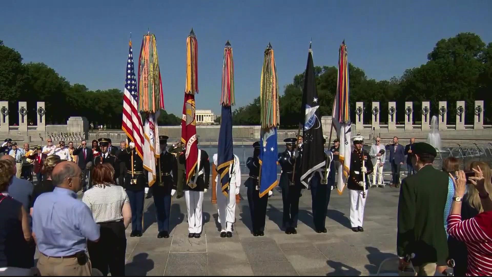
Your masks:
M364 102L364 121L371 121L371 102L380 103L380 122L388 121L388 102L397 102L397 122L402 123L405 101L413 101L413 118L420 121L422 101L430 101L430 115L438 114L438 102L447 101L448 122L454 122L456 101L465 101L465 123L474 118L474 101L484 100L484 121L492 120L492 42L460 33L439 40L427 55L428 62L406 69L390 80L369 79L363 69L349 64L350 113L355 122L355 103ZM350 61L350 56L349 56ZM384 65L382 65L384 66ZM337 89L337 66L315 67L321 115L331 115ZM301 109L304 73L294 76L280 96L282 128L297 128ZM44 101L47 124L66 124L70 116L85 116L94 125L121 128L123 93L120 89L91 91L82 84L71 85L54 69L42 63L22 63L21 54L0 40L0 100L9 101L10 124L18 122L17 102L28 102L28 122L36 122L36 102ZM83 100L83 101L81 101ZM56 111L56 112L53 112ZM215 122L219 122L217 117ZM162 111L159 125L179 125L181 117ZM259 96L233 111L234 125L259 125Z

